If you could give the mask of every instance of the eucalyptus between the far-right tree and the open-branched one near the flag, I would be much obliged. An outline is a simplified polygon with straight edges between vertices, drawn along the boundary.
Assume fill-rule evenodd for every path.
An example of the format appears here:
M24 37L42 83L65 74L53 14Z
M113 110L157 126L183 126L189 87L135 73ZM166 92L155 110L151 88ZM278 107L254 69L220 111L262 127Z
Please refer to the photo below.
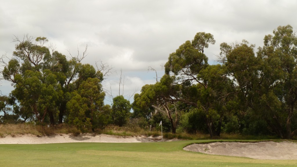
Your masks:
M259 91L262 90L261 83L265 82L261 70L263 61L255 55L254 48L255 45L249 44L246 40L230 45L225 42L220 44L219 62L226 66L226 74L232 78L233 85L235 85L235 91L232 93L236 97L234 107L241 111L236 115L236 117L241 117L241 120L246 115L256 117L255 113L250 112L263 109L258 103L260 101Z

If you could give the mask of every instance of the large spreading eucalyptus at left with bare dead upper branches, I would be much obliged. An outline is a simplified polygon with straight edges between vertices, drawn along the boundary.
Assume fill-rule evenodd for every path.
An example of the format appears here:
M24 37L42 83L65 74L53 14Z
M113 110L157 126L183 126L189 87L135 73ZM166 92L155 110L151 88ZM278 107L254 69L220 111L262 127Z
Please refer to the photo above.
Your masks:
M39 122L54 124L63 122L66 116L66 104L71 93L90 78L103 80L102 72L81 61L87 55L87 46L82 53L68 60L65 55L55 51L55 47L45 44L48 39L25 35L23 39L15 36L15 51L8 62L6 55L0 58L1 78L10 81L20 107L18 112L26 112L26 119L31 117Z

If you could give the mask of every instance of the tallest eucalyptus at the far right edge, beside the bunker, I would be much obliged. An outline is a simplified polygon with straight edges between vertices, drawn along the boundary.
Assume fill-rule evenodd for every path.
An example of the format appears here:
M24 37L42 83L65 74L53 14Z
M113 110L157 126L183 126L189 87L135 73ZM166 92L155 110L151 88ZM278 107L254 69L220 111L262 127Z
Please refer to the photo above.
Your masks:
M264 37L264 46L257 56L263 60L263 83L261 92L262 111L268 125L285 139L297 134L297 36L292 26L279 26L273 35Z

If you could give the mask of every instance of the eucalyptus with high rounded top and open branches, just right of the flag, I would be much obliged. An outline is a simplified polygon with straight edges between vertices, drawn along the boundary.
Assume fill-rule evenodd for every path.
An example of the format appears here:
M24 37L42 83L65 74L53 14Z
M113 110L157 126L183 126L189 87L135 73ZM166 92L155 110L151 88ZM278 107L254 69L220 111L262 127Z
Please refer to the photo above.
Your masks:
M199 113L211 137L220 135L222 117L228 111L224 106L234 91L225 66L207 63L204 48L214 43L213 35L197 33L192 42L186 41L169 55L165 74L174 77L164 76L164 85L170 90L167 100L202 110Z

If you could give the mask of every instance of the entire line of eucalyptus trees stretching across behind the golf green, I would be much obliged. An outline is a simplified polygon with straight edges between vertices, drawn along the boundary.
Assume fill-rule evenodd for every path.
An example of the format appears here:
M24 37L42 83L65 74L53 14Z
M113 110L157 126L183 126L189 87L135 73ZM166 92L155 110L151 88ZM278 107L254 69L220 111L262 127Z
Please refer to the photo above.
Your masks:
M13 58L1 58L1 79L15 88L0 98L1 123L68 123L95 131L130 122L159 130L162 120L164 131L211 137L224 132L292 139L297 133L297 36L290 25L266 35L257 52L246 40L220 44L214 65L205 49L216 41L199 32L169 54L165 75L144 85L132 104L117 96L112 106L103 103L106 68L82 64L86 50L67 59L45 47L45 37L14 41Z

